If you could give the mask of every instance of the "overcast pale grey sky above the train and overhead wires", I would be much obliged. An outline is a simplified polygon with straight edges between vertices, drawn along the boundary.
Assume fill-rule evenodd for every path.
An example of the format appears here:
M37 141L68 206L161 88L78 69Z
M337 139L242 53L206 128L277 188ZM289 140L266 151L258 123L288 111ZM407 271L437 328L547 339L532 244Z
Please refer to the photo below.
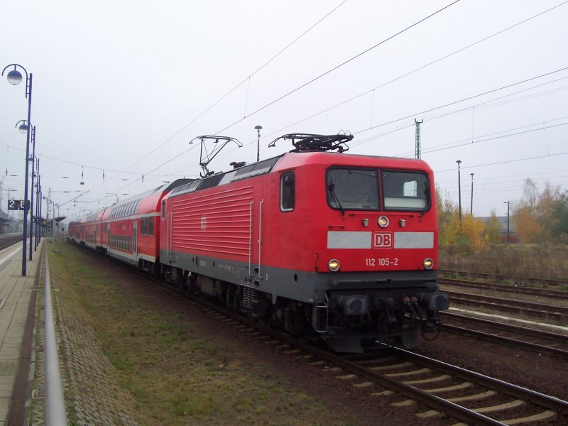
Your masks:
M267 148L284 133L340 130L355 135L349 153L413 157L423 119L422 159L456 203L461 160L464 211L474 173L476 215L506 214L525 178L566 189L568 4L450 4L2 1L0 67L33 73L42 187L68 217L197 177L195 136L244 144L210 170L251 163L256 125L261 158L290 149ZM25 136L14 126L27 118L24 92L2 77L4 211L6 190L23 199Z

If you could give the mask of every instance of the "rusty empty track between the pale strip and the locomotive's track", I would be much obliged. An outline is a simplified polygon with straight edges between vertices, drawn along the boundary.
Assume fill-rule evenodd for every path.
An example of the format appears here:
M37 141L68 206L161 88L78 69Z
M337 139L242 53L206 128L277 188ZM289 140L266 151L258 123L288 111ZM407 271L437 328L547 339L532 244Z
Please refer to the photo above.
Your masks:
M568 359L568 335L520 327L513 324L484 320L467 315L441 312L442 328L480 339L501 342L515 348L529 349ZM451 321L450 324L447 321Z

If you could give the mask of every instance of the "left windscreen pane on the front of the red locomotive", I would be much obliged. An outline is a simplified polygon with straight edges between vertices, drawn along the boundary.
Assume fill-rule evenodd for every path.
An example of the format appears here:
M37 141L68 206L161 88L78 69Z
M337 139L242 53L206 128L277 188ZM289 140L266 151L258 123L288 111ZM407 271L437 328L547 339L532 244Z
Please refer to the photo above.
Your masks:
M327 202L334 209L378 209L377 170L332 168L327 171Z

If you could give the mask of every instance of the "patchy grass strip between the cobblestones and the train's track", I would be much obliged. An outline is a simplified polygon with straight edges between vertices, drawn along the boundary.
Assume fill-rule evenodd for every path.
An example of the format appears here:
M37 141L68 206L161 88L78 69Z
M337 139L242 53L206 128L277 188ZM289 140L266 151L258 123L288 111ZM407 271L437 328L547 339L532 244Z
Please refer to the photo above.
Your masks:
M94 330L117 386L130 395L114 403L139 424L350 424L274 362L207 334L186 311L94 252L61 241L49 254L60 309Z

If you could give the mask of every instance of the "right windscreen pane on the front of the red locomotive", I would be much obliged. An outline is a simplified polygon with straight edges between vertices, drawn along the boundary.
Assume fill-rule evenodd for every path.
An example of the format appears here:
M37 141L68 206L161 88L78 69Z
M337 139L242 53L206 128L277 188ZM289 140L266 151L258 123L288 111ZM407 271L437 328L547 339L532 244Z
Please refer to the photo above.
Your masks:
M427 175L383 171L383 205L386 210L424 210L430 207Z

